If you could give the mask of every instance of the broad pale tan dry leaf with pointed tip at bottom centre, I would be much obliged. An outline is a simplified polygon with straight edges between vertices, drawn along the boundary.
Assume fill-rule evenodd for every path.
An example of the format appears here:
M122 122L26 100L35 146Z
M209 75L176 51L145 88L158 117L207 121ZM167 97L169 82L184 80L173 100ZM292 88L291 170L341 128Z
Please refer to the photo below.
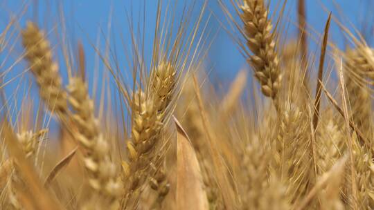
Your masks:
M175 117L174 121L177 127L177 209L208 209L195 151Z

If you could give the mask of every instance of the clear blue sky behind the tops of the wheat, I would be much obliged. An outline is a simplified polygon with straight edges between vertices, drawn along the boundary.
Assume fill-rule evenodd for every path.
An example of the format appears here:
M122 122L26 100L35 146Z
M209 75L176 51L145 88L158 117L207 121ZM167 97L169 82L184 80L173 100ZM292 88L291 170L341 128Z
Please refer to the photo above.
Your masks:
M224 0L229 2L229 0ZM37 2L37 6L35 6ZM145 4L144 4L145 2ZM168 0L165 1L166 3ZM178 2L177 10L181 11L185 2L187 1L176 1L170 0L171 5ZM306 11L308 24L317 32L323 31L324 23L328 16L326 10L332 11L333 15L339 18L344 18L353 23L354 26L359 27L358 22L362 21L363 17L373 20L373 15L364 14L363 8L366 3L370 0L306 0ZM271 1L271 10L276 8L278 1ZM342 17L335 3L341 8L341 13L344 14ZM371 3L372 6L373 3ZM51 30L56 23L60 21L57 10L63 8L64 17L66 19L66 28L69 31L68 39L74 43L74 41L81 40L87 51L87 61L91 61L94 57L94 50L89 46L89 40L95 41L99 29L103 28L105 33L107 33L106 28L108 22L112 22L112 36L115 33L121 32L123 35L129 34L129 24L127 21L127 15L133 12L134 22L139 17L139 10L143 9L147 11L146 14L146 26L148 28L154 28L154 17L156 15L157 1L143 1L143 0L112 0L112 1L102 1L102 0L64 0L64 1L2 1L0 3L1 8L5 8L8 12L2 12L0 17L0 28L3 28L4 23L8 20L9 14L19 14L21 10L24 10L25 6L28 6L28 10L25 15L22 15L19 23L24 26L24 23L28 19L36 20L40 26L48 28ZM202 0L197 1L197 8L202 5ZM215 17L211 18L209 26L213 30L218 30L220 28L220 23L215 19L220 19L224 21L224 16L220 11L220 6L218 6L217 1L208 0L208 11L213 12ZM323 9L326 7L326 10ZM136 13L138 13L136 15ZM37 14L37 15L35 15ZM290 27L292 32L288 32L288 37L296 37L295 23L296 23L296 0L289 0L287 2L287 8L285 9L285 14L290 21ZM198 11L194 13L198 15ZM369 17L370 16L370 17ZM35 18L36 17L36 18ZM139 20L139 19L138 19ZM57 25L58 27L58 25ZM339 34L339 28L336 24L332 24L332 35L331 39L341 42L341 35ZM146 43L152 43L152 30L148 31L149 34L146 35ZM120 42L119 36L115 35L116 40ZM341 44L341 43L340 43ZM116 44L116 46L121 46L121 44ZM311 43L312 48L315 43ZM117 50L121 48L117 47ZM220 30L215 36L213 45L211 46L210 53L208 55L208 62L210 66L213 66L214 73L217 73L218 77L224 76L225 78L232 78L236 71L245 65L244 59L241 57L238 49L233 43L232 39L227 35L224 30ZM92 62L88 62L89 64ZM88 65L89 65L88 64Z

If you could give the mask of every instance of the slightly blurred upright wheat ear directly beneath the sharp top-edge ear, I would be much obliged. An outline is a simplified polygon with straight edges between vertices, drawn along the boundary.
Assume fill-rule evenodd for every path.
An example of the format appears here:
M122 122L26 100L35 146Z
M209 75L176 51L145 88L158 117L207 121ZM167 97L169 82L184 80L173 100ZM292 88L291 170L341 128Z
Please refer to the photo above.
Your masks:
M276 141L276 169L287 183L287 197L295 203L308 191L312 173L308 156L308 121L299 106L286 102L279 117Z

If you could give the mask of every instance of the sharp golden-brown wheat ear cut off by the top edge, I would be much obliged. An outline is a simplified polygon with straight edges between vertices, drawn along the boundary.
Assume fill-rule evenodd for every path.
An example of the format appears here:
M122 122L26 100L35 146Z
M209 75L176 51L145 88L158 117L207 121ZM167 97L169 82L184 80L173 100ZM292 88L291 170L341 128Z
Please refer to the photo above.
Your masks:
M244 22L247 46L253 55L248 62L267 97L275 98L281 86L282 75L278 65L276 41L271 32L273 26L268 19L268 10L263 0L244 0L241 18Z

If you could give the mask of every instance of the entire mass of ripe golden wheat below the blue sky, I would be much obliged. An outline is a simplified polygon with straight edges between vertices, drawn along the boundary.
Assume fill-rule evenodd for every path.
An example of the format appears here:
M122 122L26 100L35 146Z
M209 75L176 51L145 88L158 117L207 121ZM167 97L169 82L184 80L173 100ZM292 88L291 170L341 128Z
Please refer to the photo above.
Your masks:
M341 26L353 47L340 50L328 39L329 16L314 78L305 19L302 43L281 45L282 15L272 17L266 1L217 2L238 26L235 41L260 91L245 91L249 71L241 70L217 94L201 70L201 19L192 32L181 21L172 36L158 14L152 64L144 68L135 50L131 86L98 52L121 95L119 118L90 95L82 46L80 71L69 70L64 86L46 33L28 22L21 58L44 104L37 115L46 111L62 135L57 148L45 146L48 125L24 123L33 111L15 119L2 97L1 209L374 209L374 49ZM242 102L244 92L254 102Z

